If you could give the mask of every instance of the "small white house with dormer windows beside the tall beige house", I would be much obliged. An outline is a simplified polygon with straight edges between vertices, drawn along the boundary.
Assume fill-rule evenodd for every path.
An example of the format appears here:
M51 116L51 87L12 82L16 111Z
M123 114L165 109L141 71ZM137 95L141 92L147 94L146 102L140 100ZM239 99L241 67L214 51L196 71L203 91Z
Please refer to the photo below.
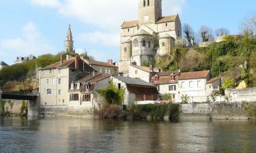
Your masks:
M87 75L71 82L69 88L70 105L97 106L98 90L109 86L110 74Z

